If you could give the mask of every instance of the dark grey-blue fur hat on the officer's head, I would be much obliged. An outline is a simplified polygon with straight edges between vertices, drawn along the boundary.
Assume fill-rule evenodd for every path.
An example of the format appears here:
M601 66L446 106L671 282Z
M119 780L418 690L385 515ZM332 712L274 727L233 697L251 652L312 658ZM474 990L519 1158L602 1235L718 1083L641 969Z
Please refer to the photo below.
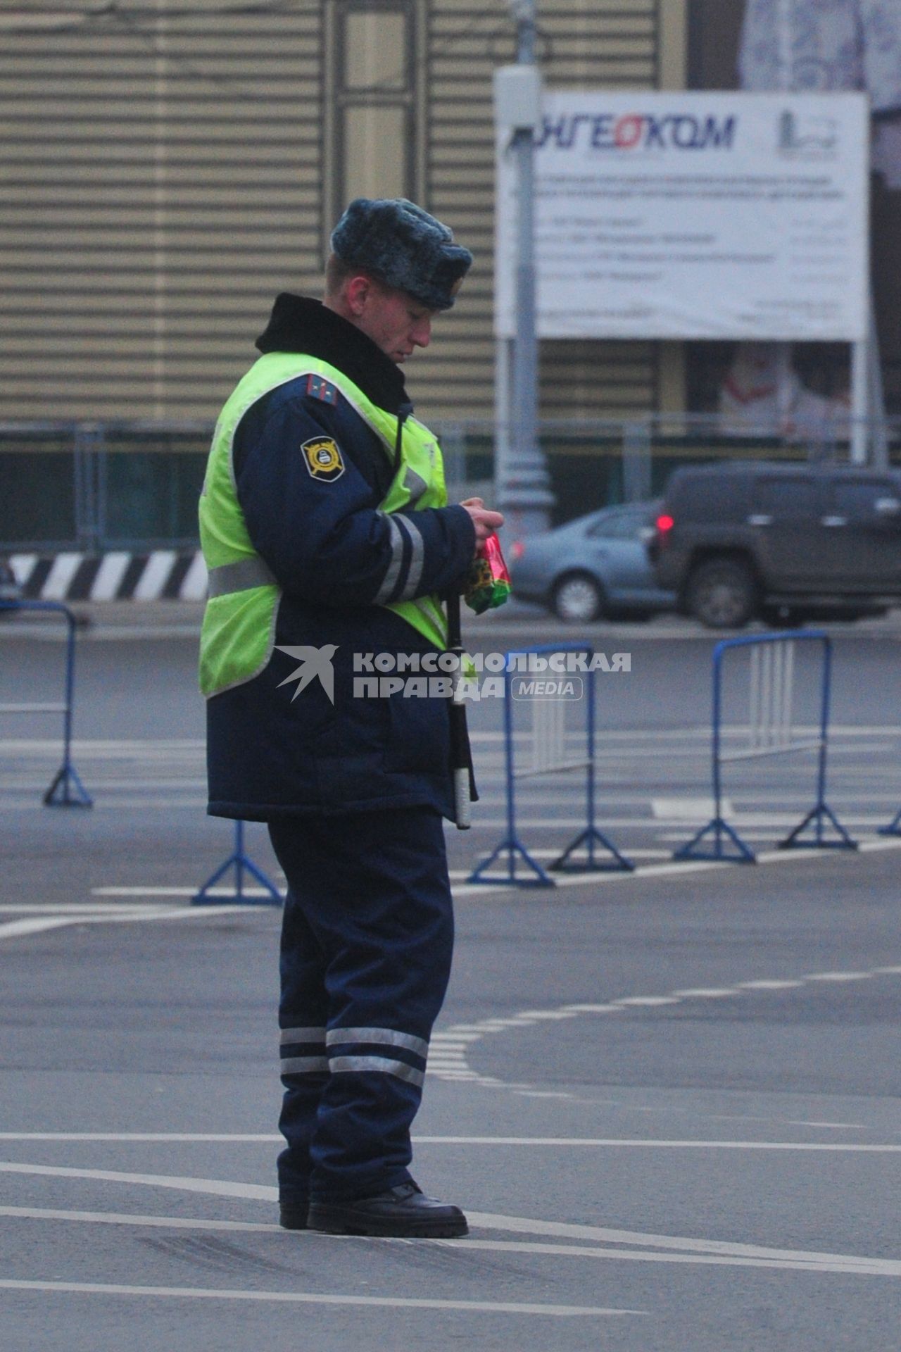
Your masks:
M450 310L473 256L447 226L405 197L357 197L335 226L332 251L430 310Z

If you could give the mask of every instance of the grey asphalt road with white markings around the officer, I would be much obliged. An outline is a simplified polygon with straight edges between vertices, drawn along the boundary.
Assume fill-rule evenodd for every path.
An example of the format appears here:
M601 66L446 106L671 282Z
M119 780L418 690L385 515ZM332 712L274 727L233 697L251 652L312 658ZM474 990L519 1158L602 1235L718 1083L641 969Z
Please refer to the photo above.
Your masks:
M800 753L729 767L756 867L673 863L709 807L712 638L654 622L592 633L631 653L598 681L597 818L638 871L474 886L507 819L501 708L473 708L482 802L448 833L457 959L415 1144L471 1234L370 1241L274 1224L278 911L188 904L230 846L203 814L195 639L118 623L78 653L93 810L39 806L53 719L3 723L4 1352L897 1352L898 840L877 827L901 806L901 626L831 630L827 796L856 850L774 849L812 802ZM494 621L484 646L563 633ZM5 630L0 699L53 698L58 658ZM582 823L578 773L523 781L538 860Z

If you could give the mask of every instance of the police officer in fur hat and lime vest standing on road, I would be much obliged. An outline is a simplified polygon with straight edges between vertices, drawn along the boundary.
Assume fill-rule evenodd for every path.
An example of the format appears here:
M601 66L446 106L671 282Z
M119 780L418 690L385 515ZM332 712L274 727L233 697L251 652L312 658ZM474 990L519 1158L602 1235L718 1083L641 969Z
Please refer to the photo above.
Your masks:
M400 369L471 254L403 199L353 201L331 246L324 303L277 297L213 435L209 813L267 822L288 879L281 1224L465 1234L409 1174L453 946L448 707L416 698L421 681L385 695L378 675L434 671L442 596L503 521L480 499L447 506Z

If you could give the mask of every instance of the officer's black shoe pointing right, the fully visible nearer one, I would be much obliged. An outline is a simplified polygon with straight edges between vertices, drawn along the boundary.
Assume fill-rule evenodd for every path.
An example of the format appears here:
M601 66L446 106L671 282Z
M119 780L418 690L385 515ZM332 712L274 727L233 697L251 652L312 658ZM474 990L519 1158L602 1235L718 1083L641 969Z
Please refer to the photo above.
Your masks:
M466 1217L458 1206L424 1197L412 1180L377 1197L361 1197L349 1202L311 1202L307 1226L326 1234L382 1234L398 1238L454 1238L469 1234Z

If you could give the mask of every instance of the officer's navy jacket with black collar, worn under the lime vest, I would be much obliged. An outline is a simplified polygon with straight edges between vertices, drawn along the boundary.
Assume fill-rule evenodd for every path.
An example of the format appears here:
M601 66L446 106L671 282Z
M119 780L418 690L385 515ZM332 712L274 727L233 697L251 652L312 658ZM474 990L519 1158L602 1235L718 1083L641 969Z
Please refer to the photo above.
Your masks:
M400 368L316 300L278 296L257 346L317 357L381 408L409 408ZM300 450L323 435L344 462L331 480L313 477ZM453 817L447 700L354 698L355 654L435 652L373 604L390 562L389 525L377 511L393 477L384 443L334 387L301 377L243 416L234 465L250 538L284 594L269 665L207 702L208 811L269 821L431 804ZM416 595L448 592L473 558L471 519L459 506L415 518L426 545ZM398 592L403 584L398 576ZM319 679L299 688L299 658L280 652L324 645L335 645L334 703Z

